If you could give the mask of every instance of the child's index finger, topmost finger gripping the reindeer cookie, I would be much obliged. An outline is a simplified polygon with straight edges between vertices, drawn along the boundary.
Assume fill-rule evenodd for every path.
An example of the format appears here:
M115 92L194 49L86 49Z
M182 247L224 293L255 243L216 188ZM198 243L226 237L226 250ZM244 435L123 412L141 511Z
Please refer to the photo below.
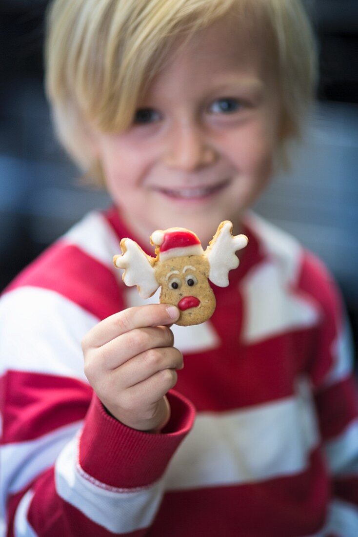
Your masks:
M170 325L179 318L179 310L170 304L147 304L115 313L92 328L86 344L101 347L123 333L146 326Z

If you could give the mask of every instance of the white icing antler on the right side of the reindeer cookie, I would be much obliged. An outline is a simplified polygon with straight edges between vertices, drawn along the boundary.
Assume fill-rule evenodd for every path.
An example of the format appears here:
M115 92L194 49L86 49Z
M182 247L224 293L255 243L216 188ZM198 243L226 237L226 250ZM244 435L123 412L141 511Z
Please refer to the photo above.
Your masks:
M229 285L229 271L239 266L235 252L245 248L249 242L246 235L233 236L231 232L232 223L225 220L217 228L213 240L205 251L210 264L209 280L219 287Z

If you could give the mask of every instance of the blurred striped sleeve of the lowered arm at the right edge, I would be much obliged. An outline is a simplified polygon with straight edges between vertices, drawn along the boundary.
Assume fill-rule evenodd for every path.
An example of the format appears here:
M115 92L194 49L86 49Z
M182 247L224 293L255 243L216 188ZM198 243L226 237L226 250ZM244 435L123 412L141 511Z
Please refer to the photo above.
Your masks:
M305 272L308 285L314 289L312 294L322 307L309 374L333 480L330 530L338 535L358 535L358 390L352 342L339 292L330 275L310 256Z

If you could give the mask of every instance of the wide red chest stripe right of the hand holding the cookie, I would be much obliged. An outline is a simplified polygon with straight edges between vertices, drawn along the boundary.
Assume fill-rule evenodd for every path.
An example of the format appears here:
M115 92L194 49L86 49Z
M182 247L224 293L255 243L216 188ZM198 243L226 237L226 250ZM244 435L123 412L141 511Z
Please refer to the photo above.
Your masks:
M176 389L198 411L235 410L291 397L312 336L312 330L299 330L252 345L228 336L219 349L185 356Z

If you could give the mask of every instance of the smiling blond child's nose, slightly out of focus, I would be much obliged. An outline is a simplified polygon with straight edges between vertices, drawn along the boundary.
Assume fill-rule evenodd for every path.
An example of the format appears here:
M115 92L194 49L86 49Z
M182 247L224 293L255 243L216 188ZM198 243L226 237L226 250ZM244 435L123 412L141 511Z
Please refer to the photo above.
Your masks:
M194 171L214 164L217 158L216 150L194 124L176 126L168 137L164 163L169 168Z

